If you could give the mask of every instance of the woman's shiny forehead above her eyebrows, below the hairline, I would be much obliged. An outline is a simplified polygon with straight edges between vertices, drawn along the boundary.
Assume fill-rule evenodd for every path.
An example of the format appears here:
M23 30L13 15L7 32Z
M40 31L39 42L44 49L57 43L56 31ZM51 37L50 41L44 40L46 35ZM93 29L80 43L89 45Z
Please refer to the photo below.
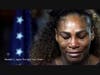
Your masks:
M80 29L80 28L86 28L86 21L78 16L78 15L69 15L63 17L59 23L58 28L60 29Z

